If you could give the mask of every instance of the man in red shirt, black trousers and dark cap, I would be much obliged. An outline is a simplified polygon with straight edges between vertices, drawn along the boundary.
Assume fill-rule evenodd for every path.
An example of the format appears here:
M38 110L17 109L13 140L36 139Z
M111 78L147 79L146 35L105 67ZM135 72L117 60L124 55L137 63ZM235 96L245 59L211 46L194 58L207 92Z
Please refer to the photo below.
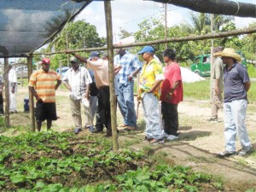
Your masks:
M180 67L175 62L175 50L165 49L163 57L166 63L165 79L161 85L160 95L165 131L163 137L167 137L168 140L174 140L178 138L177 104L183 101L183 81Z

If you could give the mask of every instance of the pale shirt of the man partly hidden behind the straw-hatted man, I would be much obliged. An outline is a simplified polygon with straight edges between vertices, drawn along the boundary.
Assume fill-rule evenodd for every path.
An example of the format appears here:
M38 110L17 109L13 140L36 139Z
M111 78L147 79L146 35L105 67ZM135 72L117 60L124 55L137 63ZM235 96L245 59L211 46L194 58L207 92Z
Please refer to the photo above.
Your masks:
M220 57L217 57L212 64L211 88L215 88L215 79L218 79L218 89L223 92L223 70L224 64Z

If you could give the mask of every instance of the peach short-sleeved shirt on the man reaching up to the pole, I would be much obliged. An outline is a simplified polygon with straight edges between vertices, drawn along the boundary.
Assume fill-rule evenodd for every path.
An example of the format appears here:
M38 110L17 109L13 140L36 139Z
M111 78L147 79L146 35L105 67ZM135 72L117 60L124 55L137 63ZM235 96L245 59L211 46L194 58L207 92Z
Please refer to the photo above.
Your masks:
M92 69L95 75L96 87L109 86L108 81L108 61L99 59L97 61L87 61L87 68Z

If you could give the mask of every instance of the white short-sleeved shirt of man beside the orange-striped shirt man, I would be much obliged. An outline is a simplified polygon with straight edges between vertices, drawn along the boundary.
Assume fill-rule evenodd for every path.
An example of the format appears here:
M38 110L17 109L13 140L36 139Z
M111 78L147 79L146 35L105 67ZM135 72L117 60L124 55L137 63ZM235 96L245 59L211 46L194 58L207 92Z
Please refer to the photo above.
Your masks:
M92 83L90 73L85 67L79 67L77 71L68 69L62 80L71 86L74 100L81 99L85 94L86 84Z

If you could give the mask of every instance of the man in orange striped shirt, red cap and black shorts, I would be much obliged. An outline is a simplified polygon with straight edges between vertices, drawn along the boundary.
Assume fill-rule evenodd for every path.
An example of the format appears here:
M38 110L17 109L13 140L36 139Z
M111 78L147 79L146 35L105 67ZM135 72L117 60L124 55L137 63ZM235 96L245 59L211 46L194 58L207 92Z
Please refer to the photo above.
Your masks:
M57 119L55 106L55 90L61 84L61 76L49 69L50 61L44 58L42 69L32 73L29 79L29 90L37 99L36 120L38 131L41 131L42 122L47 120L47 130L52 125L52 120ZM55 81L57 83L55 84Z

